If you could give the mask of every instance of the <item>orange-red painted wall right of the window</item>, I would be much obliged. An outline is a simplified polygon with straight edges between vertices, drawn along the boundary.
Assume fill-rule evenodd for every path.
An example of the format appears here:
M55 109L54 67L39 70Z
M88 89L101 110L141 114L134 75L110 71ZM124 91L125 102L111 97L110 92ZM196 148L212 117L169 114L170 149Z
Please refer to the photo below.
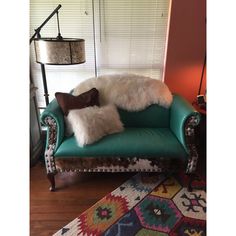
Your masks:
M191 103L198 94L206 52L205 19L206 0L172 0L164 80Z

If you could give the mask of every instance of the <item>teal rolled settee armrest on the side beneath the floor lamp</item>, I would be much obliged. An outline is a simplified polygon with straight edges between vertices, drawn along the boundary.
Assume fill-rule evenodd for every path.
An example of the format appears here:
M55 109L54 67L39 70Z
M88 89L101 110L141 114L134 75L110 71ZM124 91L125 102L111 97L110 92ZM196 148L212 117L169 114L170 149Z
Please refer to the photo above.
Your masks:
M61 144L65 131L64 115L56 99L46 107L41 115L41 121L47 126L46 149L51 145L51 151L54 153Z

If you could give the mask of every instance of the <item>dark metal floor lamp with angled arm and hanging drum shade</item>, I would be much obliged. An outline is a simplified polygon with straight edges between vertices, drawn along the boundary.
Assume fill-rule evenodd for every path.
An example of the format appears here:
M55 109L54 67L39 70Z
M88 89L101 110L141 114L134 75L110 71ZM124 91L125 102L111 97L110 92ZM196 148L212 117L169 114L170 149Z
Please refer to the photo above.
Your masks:
M49 94L45 65L74 65L85 62L85 41L78 38L63 38L60 33L59 25L59 4L47 19L35 30L30 38L30 44L34 41L36 62L41 64L41 72L44 87L46 106L49 104ZM57 14L58 36L56 38L42 38L40 31L43 26Z

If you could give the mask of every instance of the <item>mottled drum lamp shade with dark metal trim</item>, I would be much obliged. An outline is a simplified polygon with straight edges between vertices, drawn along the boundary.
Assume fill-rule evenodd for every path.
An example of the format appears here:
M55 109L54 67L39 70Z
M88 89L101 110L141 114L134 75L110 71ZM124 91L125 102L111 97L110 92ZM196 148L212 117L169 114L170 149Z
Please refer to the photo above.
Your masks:
M73 65L85 62L84 39L34 39L36 61L46 65Z

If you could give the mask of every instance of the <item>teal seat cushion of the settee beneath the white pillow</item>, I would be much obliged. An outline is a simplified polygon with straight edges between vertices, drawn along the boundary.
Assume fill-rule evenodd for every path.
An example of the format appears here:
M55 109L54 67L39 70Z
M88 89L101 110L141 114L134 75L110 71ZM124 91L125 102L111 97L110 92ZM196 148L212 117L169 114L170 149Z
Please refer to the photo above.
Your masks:
M79 147L75 137L71 136L55 152L55 158L96 156L187 159L183 146L168 128L126 128L121 133L107 135L85 147Z

